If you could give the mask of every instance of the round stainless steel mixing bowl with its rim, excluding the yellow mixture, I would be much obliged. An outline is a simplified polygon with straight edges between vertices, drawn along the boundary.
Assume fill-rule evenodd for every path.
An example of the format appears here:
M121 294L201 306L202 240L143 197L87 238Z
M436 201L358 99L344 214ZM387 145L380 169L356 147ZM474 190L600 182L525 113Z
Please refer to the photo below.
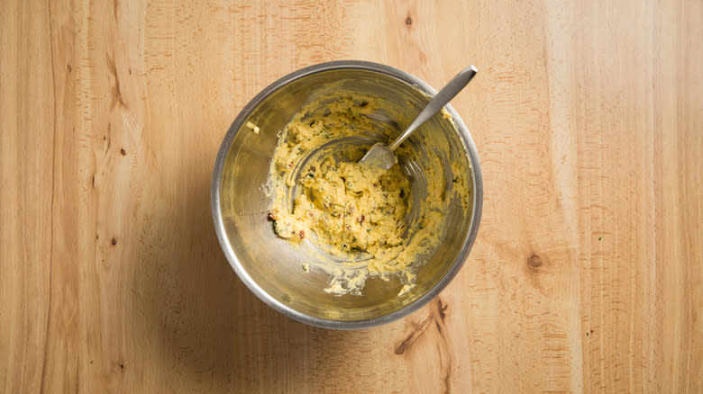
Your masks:
M483 201L483 184L476 147L459 115L435 116L415 132L441 136L451 148L455 168L465 172L471 189L469 209L452 204L446 235L434 254L417 268L411 291L398 296L402 283L371 278L361 295L337 296L323 291L327 273L310 270L306 255L275 236L267 220L265 193L269 164L283 130L310 94L325 85L343 86L384 99L405 126L436 92L415 76L393 67L362 61L336 61L300 69L266 87L234 120L215 161L211 203L215 231L234 271L251 291L274 309L306 324L326 328L363 328L402 318L432 300L452 280L476 239ZM389 112L393 113L393 112ZM260 128L258 134L247 127ZM452 125L453 122L453 125ZM418 144L418 139L406 143ZM418 146L419 148L419 146ZM449 167L449 166L447 166ZM445 168L451 174L451 168Z

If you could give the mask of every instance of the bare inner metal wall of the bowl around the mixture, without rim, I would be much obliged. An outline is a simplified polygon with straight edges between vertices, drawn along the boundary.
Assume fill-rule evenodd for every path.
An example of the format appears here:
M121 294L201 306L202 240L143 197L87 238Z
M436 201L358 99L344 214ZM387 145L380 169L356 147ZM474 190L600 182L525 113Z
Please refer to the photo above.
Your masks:
M333 87L330 87L333 86ZM224 227L225 252L242 280L256 286L289 309L294 316L333 321L367 320L387 316L422 298L452 269L461 264L467 251L476 193L471 193L469 209L460 201L450 205L443 242L434 255L417 268L416 286L398 296L403 283L396 278L384 281L370 278L360 295L335 296L323 291L330 275L311 266L304 252L288 241L275 236L267 220L269 197L265 184L269 164L278 140L278 132L294 113L306 103L310 94L326 88L342 88L379 97L388 111L388 121L405 127L429 101L418 87L394 76L362 69L333 69L303 76L278 86L233 124L233 137L224 157L220 179L220 215ZM248 112L247 112L248 111ZM260 128L258 134L246 126L251 122ZM461 124L461 120L457 123ZM463 125L461 125L463 127ZM448 149L445 157L450 172L464 172L474 183L473 166L466 148L469 141L454 126L452 119L435 116L407 143L433 139L437 147ZM227 139L225 139L226 143ZM449 174L451 175L451 174ZM451 179L451 178L450 178ZM229 250L228 250L229 249ZM238 266L237 266L238 265ZM255 291L256 292L256 291ZM259 294L260 295L260 294Z

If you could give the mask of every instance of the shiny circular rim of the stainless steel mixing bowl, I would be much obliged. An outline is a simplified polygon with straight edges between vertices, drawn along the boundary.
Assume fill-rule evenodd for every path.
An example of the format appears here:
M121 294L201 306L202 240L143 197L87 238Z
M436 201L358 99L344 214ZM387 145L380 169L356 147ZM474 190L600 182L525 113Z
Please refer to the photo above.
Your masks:
M244 282L244 284L249 288L249 290L256 294L256 296L259 297L260 300L269 305L269 307L278 310L278 312L282 313L283 315L288 316L289 318L294 318L297 321L306 323L311 326L332 329L360 329L380 326L391 321L397 320L398 318L406 317L407 315L415 312L415 310L425 306L425 304L427 304L429 301L434 300L434 298L439 295L439 293L443 291L444 288L446 288L450 282L452 282L452 279L456 276L457 273L459 273L461 266L463 266L463 264L466 262L471 247L473 246L479 232L481 210L483 208L483 178L481 175L481 168L479 164L479 154L476 150L476 146L474 145L469 130L464 125L464 122L461 120L459 114L454 111L452 105L447 104L445 108L452 115L452 121L454 121L454 124L456 125L456 128L464 141L464 144L469 154L470 164L473 169L471 176L473 180L473 217L471 218L470 229L463 241L461 251L452 263L452 266L449 268L447 273L443 275L443 277L439 280L439 282L434 285L432 289L425 292L425 294L420 296L417 300L411 302L410 304L406 305L401 309L394 310L393 312L376 318L365 318L358 320L333 320L328 318L317 318L315 316L306 315L305 313L297 311L296 309L292 309L283 302L274 299L267 291L264 291L260 287L260 285L251 278L251 275L247 273L247 271L244 269L239 259L237 258L237 255L234 253L234 250L230 245L229 239L225 232L220 201L224 161L227 155L229 154L230 148L232 147L232 143L237 132L242 129L244 122L249 118L251 112L253 112L253 110L270 94L276 92L283 86L296 81L297 79L304 78L306 76L312 76L322 72L342 69L377 72L379 74L399 79L408 85L412 85L421 92L428 94L430 97L434 96L434 94L437 93L432 86L427 85L420 78L408 74L405 71L399 70L395 67L390 67L375 62L362 60L337 60L319 63L313 66L300 68L297 71L288 74L287 76L278 78L278 80L261 90L259 94L256 94L254 98L252 98L251 101L247 103L244 108L242 108L242 111L234 119L229 130L227 130L227 134L224 136L223 142L220 145L220 149L215 159L213 180L210 187L210 204L213 215L213 221L215 224L215 232L220 242L220 246L222 246L223 248L224 255L226 256L227 261L232 266L234 272L237 273L237 276L239 276L242 282Z

